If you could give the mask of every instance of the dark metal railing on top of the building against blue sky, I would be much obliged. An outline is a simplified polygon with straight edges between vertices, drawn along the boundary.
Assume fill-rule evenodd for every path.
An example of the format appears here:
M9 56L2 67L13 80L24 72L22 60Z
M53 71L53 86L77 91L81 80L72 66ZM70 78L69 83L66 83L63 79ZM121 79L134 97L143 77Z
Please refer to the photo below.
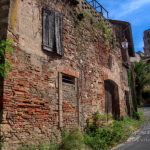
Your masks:
M97 1L86 0L95 10L101 13L104 17L109 18L109 12Z

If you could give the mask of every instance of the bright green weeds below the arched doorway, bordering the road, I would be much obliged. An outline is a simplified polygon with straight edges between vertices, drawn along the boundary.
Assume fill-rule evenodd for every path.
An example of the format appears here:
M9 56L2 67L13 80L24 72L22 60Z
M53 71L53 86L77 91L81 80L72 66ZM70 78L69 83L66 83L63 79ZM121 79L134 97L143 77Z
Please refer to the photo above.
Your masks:
M139 120L129 117L123 117L119 121L114 120L112 124L97 127L93 121L86 128L84 142L93 150L105 150L127 138L134 130L138 129L144 121L142 113L139 114ZM96 113L93 120L100 119L101 116Z

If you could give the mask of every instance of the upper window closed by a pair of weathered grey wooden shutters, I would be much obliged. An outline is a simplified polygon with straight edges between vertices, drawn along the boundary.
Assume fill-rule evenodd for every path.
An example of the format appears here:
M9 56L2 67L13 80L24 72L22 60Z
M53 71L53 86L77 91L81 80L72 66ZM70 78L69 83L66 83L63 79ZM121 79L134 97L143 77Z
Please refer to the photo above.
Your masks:
M63 55L62 23L62 14L43 8L43 50Z

